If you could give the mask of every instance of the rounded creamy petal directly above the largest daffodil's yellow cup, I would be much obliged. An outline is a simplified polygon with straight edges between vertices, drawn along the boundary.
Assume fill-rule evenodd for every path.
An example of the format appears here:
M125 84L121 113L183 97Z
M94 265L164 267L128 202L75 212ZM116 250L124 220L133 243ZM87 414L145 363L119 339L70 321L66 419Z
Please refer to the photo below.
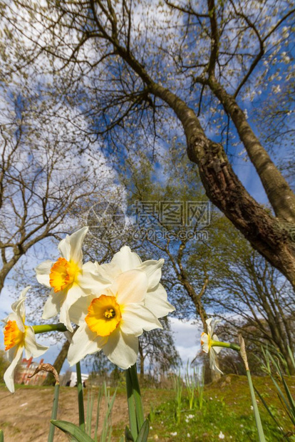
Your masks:
M119 274L110 290L117 294L118 304L139 303L145 299L148 289L148 277L140 270L129 270ZM115 294L114 293L114 294Z

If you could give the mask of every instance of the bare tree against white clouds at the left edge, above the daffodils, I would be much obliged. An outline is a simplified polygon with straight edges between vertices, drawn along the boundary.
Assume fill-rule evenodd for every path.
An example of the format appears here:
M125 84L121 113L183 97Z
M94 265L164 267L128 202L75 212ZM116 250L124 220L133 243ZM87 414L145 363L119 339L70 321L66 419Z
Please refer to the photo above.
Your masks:
M108 172L89 150L77 160L89 141L71 123L72 111L28 88L8 88L0 109L0 292L32 247L77 227L77 212L98 198Z

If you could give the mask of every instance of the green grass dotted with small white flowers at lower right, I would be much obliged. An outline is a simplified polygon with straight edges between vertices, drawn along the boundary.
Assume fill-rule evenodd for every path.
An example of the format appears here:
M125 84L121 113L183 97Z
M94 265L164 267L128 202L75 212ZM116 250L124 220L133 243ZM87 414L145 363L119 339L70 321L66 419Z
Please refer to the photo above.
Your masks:
M278 421L284 424L284 427L289 426L290 431L294 431L294 428L290 427L286 413L281 408L271 379L267 376L254 377L253 381L262 397L271 401L272 410L278 417ZM289 384L294 389L295 379L289 378ZM157 393L160 398L162 392L157 391ZM148 391L143 391L143 396L148 396ZM182 397L179 423L177 423L178 417L175 416L174 391L170 391L170 396L161 404L157 406L152 404L153 422L150 424L149 441L249 442L258 440L246 376L224 376L217 384L205 386L202 410L190 410L189 398L185 391ZM258 406L266 441L281 441L281 433L260 401L258 401ZM145 414L148 414L148 411L145 407ZM224 435L223 439L219 439L220 432ZM118 438L113 438L113 440L116 441Z

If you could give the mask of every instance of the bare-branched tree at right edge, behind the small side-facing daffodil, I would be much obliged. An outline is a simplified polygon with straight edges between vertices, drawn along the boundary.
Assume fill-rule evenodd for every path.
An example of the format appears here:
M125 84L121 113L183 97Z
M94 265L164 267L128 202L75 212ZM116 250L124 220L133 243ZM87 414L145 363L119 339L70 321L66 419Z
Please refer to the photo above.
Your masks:
M274 346L294 373L288 346L294 351L294 291L291 284L252 250L242 235L224 218L218 221L207 243L206 255L190 259L192 279L194 269L205 265L209 283L207 302L223 318L224 332L242 332L260 351L262 344ZM253 344L254 347L253 347Z

